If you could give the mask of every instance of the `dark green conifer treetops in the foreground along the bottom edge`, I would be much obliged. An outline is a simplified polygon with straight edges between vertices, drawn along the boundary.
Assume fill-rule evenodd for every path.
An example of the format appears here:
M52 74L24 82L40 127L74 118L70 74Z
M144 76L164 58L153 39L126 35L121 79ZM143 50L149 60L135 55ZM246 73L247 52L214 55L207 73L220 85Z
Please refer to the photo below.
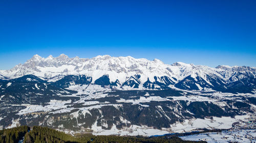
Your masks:
M92 135L82 134L72 136L64 132L56 131L47 127L20 126L12 129L0 131L0 142L15 143L23 140L24 143L85 143L85 142L196 142L185 141L177 136L173 137L135 137L135 136L116 136L116 135Z

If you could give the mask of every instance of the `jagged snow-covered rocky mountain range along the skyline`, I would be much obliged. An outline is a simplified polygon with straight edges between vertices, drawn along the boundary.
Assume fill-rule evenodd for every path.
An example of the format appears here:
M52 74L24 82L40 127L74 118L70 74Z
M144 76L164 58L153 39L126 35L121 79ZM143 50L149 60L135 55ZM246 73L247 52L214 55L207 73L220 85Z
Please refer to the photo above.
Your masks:
M69 58L60 54L54 58L34 55L25 64L10 70L0 70L1 79L14 79L35 75L48 82L63 81L66 76L86 77L89 83L112 85L117 89L168 89L204 90L248 93L255 91L255 67L246 66L197 66L177 62L164 64L155 59L135 59L131 56L95 58ZM64 81L63 81L64 82ZM74 82L65 80L65 82Z

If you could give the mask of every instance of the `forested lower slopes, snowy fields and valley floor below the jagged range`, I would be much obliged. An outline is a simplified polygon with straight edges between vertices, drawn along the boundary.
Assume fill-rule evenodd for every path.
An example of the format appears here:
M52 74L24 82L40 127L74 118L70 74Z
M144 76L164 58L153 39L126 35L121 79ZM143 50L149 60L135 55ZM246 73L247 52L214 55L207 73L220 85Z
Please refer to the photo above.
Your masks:
M78 78L70 76L65 79ZM15 81L19 81L17 85ZM56 88L53 91L58 93L48 95L51 90L47 89L52 83L42 81L47 84L41 85L33 75L15 81L6 80L4 85L28 90L19 93L14 90L16 94L0 92L0 128L19 123L73 133L90 132L88 129L91 129L94 134L110 132L126 135L130 132L130 135L151 136L160 131L176 133L229 129L234 122L245 123L239 120L242 117L255 120L254 94L173 89L112 91L107 86L72 84L67 90L76 93L61 92L62 89ZM147 129L157 130L153 133L138 132Z

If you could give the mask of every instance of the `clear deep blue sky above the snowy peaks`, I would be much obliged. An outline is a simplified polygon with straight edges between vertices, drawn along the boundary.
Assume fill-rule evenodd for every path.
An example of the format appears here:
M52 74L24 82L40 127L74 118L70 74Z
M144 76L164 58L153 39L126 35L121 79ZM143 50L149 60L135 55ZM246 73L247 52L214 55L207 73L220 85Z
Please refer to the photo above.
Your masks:
M256 1L0 1L0 69L97 55L256 66Z

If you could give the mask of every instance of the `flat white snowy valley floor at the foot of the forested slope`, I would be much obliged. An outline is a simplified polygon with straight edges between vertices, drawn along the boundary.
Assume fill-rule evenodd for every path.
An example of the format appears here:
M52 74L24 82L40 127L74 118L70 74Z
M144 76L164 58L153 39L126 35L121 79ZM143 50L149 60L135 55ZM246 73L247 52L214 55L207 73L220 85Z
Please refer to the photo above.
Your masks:
M110 130L102 129L102 127L97 126L97 122L95 122L92 126L94 135L142 135L142 136L152 136L152 135L164 135L169 133L186 133L197 131L202 128L206 129L229 129L232 127L234 122L247 121L246 118L248 116L236 116L236 118L230 117L214 117L213 120L209 119L196 119L193 121L186 120L184 123L178 123L172 125L171 128L162 128L162 130L154 129L153 127L147 126L137 126L132 125L130 128L123 128L121 130L117 129L114 125ZM129 121L124 121L129 122ZM90 128L88 128L90 129ZM79 132L84 132L85 130L81 130ZM249 130L250 131L250 130ZM254 131L254 130L253 130ZM65 130L66 133L74 133L73 131ZM188 139L190 140L190 139Z

